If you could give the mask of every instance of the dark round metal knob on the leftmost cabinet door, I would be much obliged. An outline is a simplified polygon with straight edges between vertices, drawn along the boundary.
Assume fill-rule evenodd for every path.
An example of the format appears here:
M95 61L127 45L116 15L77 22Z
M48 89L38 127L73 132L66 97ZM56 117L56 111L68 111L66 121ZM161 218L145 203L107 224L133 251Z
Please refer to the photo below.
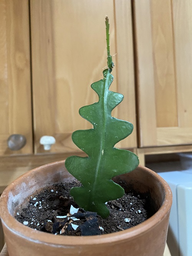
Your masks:
M7 146L10 150L20 150L25 144L26 138L21 134L12 134L7 140Z

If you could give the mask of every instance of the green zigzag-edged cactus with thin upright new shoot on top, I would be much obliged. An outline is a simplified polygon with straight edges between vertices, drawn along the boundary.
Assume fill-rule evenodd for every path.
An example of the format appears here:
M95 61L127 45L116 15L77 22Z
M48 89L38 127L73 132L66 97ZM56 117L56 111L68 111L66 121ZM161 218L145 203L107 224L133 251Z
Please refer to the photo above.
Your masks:
M78 130L72 140L88 157L70 156L65 161L67 170L77 178L82 186L71 189L76 203L86 211L97 212L107 218L109 210L106 202L121 198L124 189L112 181L117 175L134 170L138 157L128 151L114 148L114 145L132 133L133 125L111 116L111 111L123 100L123 95L109 91L113 81L112 57L109 49L109 22L106 17L108 69L103 71L103 79L91 85L99 96L99 101L79 109L79 114L88 120L93 128Z

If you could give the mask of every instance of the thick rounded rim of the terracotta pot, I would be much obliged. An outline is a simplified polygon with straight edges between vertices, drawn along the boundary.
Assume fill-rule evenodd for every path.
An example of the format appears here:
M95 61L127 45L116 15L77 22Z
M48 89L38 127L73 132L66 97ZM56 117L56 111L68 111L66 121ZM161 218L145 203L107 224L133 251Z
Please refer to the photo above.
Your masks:
M56 161L46 165L57 165L58 163L65 164L65 160ZM43 166L46 166L46 165L43 165ZM152 227L157 225L166 216L165 213L169 212L169 209L172 204L172 192L167 182L163 180L163 178L161 178L161 176L159 176L154 171L139 165L138 168L143 169L143 171L146 171L149 175L152 175L156 180L159 181L159 183L161 184L161 187L164 189L164 192L165 192L164 202L162 206L159 208L159 210L153 216L151 216L149 219L147 219L141 224L138 224L135 227L126 229L124 231L118 231L116 233L102 234L102 235L95 235L95 236L55 236L54 234L37 231L28 226L23 225L22 223L18 222L9 213L7 208L8 191L12 188L12 186L14 186L15 183L17 184L18 180L20 180L20 178L22 177L25 177L26 174L29 175L31 172L34 172L40 168L42 168L42 166L39 166L31 171L28 171L27 173L24 173L23 175L18 177L3 191L2 196L0 197L0 205L2 206L0 208L0 216L1 216L2 224L5 225L8 229L11 229L12 232L17 234L18 236L21 236L30 241L34 241L36 243L52 244L53 246L60 245L66 248L66 247L73 247L74 245L81 245L81 244L89 245L89 244L115 243L116 241L119 242L120 240L131 239L135 236L138 237L142 235L142 233L144 233L146 230L151 229ZM9 223L9 226L7 225L7 223Z

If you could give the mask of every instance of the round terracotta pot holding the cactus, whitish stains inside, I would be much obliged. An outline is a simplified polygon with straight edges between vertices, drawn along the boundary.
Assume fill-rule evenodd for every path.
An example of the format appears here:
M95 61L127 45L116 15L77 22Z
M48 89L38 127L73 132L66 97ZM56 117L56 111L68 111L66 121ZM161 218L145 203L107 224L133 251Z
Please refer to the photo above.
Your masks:
M65 161L59 161L25 173L5 189L0 198L0 217L9 256L163 256L172 193L166 181L142 166L117 178L138 191L150 191L158 209L151 218L133 228L97 236L55 236L24 226L13 217L18 204L36 190L48 183L71 179Z

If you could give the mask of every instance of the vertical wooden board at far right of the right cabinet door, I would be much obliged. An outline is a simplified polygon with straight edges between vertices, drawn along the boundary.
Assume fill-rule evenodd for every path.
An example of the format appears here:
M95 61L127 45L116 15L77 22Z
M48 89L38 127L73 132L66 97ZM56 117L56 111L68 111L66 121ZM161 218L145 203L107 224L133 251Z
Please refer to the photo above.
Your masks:
M172 2L179 124L192 127L192 0ZM192 129L191 129L192 131ZM192 134L190 141L192 142Z

